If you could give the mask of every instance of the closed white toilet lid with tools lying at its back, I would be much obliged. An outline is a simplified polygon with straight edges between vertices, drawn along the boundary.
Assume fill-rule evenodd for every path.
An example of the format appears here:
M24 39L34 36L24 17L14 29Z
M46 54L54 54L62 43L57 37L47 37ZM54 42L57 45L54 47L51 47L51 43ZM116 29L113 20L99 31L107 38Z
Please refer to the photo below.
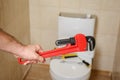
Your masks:
M91 68L84 65L80 60L54 59L50 63L50 70L60 77L78 78L88 74Z

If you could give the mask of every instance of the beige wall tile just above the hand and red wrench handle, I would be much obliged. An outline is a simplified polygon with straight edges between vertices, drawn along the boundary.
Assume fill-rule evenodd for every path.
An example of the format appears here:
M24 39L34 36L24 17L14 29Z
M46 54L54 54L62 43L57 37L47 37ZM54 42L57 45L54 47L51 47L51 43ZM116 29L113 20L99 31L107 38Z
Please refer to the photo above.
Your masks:
M44 50L54 49L57 37L57 29L32 29L31 42L40 44Z

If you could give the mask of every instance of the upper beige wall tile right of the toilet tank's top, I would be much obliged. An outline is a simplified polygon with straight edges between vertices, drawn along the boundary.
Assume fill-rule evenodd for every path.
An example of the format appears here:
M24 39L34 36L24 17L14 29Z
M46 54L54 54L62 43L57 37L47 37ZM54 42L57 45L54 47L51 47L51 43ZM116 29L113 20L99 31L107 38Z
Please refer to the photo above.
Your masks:
M119 13L113 11L101 11L98 17L97 33L102 35L117 35L119 28Z

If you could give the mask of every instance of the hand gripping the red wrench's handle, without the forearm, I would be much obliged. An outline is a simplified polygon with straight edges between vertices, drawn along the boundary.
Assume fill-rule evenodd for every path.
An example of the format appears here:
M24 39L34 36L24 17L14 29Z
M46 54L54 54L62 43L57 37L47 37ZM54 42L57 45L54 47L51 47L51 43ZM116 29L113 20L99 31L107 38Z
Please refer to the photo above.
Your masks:
M24 65L43 62L44 59L38 54L39 52L42 52L42 48L39 45L27 45L23 47L18 56L28 60Z

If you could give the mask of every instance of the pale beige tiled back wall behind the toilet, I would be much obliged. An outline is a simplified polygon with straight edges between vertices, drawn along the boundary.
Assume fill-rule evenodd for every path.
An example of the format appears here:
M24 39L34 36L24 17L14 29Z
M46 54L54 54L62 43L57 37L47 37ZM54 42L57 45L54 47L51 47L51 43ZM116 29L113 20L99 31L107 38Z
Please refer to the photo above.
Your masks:
M31 42L53 49L60 12L97 16L93 68L112 71L120 20L120 0L29 0Z

